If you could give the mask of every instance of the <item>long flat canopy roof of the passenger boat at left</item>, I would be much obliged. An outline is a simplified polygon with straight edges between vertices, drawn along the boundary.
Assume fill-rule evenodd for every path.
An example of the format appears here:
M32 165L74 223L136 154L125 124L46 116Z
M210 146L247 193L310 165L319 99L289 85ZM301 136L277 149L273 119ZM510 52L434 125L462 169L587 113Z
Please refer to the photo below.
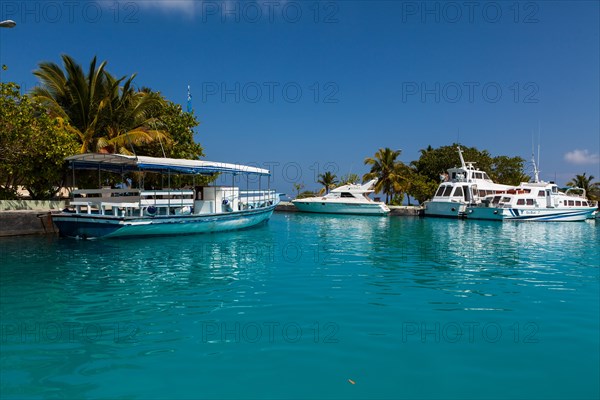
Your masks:
M127 156L124 154L77 154L67 157L66 161L69 161L71 168L74 169L102 169L113 172L152 171L165 173L171 171L189 175L214 175L217 173L271 175L267 169L248 165L181 158Z

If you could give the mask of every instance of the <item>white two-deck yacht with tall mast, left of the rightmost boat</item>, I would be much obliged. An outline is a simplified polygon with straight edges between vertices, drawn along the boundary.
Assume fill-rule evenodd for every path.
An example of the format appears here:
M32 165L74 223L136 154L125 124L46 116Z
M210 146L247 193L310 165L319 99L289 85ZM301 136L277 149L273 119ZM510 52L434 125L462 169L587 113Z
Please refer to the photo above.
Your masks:
M462 217L468 205L474 205L488 195L504 192L512 186L494 183L472 162L465 162L458 147L461 166L448 169L433 198L426 201L425 215L430 217Z

